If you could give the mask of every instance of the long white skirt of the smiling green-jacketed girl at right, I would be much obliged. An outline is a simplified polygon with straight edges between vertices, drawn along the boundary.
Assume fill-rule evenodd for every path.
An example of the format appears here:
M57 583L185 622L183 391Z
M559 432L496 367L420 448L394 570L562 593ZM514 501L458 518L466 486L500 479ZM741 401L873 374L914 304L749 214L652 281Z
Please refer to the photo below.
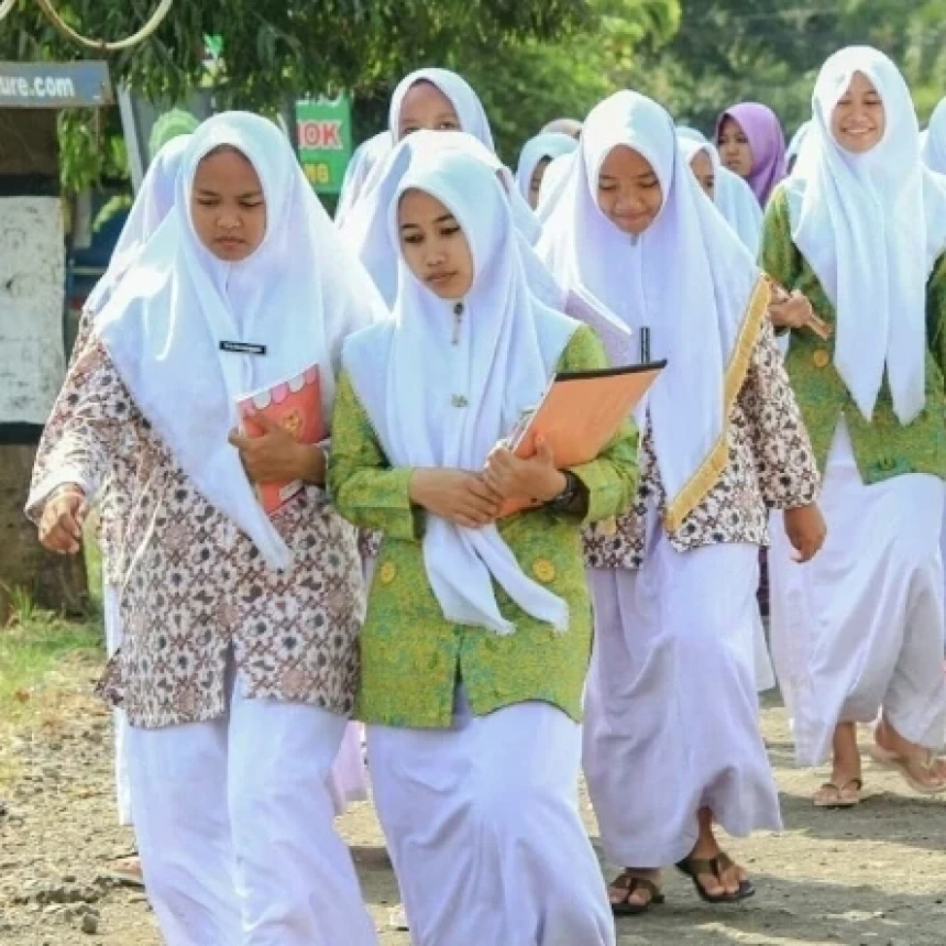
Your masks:
M772 529L772 652L796 760L824 763L838 723L871 723L881 710L904 738L939 749L943 481L909 474L866 486L842 421L820 505L827 539L811 562L791 561L781 516Z

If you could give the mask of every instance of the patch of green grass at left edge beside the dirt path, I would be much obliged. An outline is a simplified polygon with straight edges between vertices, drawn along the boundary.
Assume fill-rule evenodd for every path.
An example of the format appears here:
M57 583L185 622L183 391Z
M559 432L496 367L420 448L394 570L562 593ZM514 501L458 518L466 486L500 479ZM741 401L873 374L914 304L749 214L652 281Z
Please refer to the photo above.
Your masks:
M87 549L89 587L98 590L100 559L92 542ZM18 772L13 736L55 725L64 685L74 683L79 668L94 675L101 660L97 613L86 620L67 620L36 607L28 594L14 593L12 616L0 626L0 788Z

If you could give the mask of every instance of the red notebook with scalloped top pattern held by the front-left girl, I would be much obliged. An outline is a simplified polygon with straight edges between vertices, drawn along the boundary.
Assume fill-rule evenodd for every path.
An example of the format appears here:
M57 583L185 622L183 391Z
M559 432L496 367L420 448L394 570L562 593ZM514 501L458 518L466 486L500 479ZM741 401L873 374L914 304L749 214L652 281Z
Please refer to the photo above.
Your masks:
M237 408L246 437L261 437L264 433L263 428L253 420L253 415L265 414L288 430L299 443L320 443L326 439L318 365L263 391L248 394L237 403ZM290 480L285 483L258 483L255 490L261 505L272 516L304 485L301 480Z

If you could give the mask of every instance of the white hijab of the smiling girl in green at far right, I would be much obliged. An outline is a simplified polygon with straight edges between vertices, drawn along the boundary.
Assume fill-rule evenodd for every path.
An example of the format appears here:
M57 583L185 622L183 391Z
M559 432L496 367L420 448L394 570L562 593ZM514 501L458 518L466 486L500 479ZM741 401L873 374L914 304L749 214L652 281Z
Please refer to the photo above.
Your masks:
M875 85L887 116L883 139L861 155L831 131L855 73ZM883 53L835 53L818 75L813 112L785 185L792 239L835 306L835 366L858 409L873 415L886 367L894 413L910 424L926 399L926 279L946 246L946 197L920 160L906 82Z

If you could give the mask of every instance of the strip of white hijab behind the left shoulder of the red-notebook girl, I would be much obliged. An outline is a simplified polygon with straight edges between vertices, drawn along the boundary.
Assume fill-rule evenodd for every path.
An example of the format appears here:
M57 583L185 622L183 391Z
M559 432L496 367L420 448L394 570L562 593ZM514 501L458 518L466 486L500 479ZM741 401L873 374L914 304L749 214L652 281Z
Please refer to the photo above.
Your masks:
M86 299L88 311L98 312L105 306L141 248L170 212L180 160L189 141L189 134L173 138L154 156L119 234L108 268Z

